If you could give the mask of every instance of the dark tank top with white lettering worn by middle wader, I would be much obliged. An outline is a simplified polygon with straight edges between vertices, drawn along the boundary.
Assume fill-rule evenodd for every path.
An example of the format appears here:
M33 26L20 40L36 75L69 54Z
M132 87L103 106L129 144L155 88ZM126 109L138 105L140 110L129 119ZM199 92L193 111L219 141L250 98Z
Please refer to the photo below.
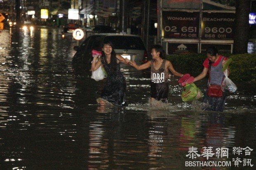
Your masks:
M154 68L154 60L151 60L151 82L153 83L167 82L168 72L166 72L166 69L165 69L165 62L166 60L163 60L160 68L156 70Z

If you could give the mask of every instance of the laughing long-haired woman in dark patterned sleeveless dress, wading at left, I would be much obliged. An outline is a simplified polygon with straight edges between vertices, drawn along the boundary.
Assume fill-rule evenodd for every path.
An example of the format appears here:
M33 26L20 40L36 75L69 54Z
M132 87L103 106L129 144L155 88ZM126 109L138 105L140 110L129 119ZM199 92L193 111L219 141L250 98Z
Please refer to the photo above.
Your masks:
M127 106L126 80L121 73L119 62L128 64L122 56L115 53L113 44L110 41L104 42L100 59L97 61L97 57L94 57L92 60L92 71L103 65L107 72L106 85L103 88L101 98L97 99L100 105L111 102L116 106Z

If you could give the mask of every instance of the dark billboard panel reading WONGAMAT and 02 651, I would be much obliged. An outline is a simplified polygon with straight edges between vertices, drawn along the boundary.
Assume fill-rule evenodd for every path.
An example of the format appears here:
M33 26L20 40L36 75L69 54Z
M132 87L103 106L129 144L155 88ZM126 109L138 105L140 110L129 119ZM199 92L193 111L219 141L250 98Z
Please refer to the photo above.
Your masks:
M163 11L162 36L164 38L199 37L199 12Z

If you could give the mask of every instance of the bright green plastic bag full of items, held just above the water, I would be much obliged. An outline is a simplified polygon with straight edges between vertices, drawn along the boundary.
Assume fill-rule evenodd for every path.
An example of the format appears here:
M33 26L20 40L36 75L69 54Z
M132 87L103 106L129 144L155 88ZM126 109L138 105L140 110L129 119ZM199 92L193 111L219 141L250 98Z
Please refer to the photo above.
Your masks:
M183 102L197 100L201 97L202 92L194 83L186 84L184 86L184 91L181 93L181 99Z

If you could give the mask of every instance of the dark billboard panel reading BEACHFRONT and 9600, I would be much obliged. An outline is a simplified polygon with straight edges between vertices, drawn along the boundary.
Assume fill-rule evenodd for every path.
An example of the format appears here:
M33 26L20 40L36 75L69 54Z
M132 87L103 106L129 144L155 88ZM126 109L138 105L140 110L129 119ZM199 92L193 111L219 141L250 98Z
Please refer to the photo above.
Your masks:
M235 13L203 13L201 39L232 40L234 37Z

